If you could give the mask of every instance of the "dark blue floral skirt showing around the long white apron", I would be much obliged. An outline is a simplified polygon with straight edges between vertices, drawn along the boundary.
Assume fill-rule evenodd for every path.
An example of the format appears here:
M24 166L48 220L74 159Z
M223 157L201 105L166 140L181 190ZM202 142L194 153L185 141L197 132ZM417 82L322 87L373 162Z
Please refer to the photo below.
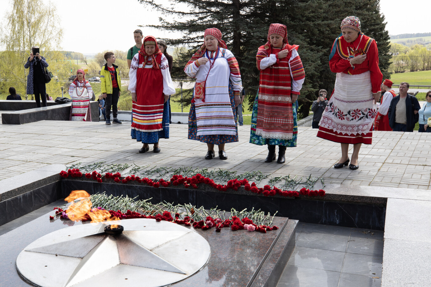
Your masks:
M234 90L232 90L232 84L229 81L229 97L231 99L232 113L235 117L235 125L237 123L237 113L235 109ZM196 124L196 110L194 103L191 103L189 112L189 128L188 128L188 139L189 140L200 140L203 143L222 144L222 143L234 143L238 141L238 127L236 127L236 134L208 134L203 136L197 136L197 124Z

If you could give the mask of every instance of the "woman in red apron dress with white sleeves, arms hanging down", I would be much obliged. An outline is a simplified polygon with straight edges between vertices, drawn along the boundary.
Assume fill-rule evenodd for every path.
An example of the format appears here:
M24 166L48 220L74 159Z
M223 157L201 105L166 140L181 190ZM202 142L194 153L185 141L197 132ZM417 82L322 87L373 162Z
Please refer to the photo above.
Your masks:
M159 50L153 36L144 38L139 53L134 55L129 70L132 94L131 137L143 143L139 153L147 152L154 143L159 153L159 139L169 138L169 96L175 87L169 73L168 59Z

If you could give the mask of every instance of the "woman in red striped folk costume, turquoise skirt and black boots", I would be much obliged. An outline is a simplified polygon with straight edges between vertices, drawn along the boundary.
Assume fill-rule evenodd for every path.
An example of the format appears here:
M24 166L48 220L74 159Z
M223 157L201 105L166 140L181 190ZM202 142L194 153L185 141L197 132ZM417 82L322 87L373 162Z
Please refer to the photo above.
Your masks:
M268 145L265 162L284 163L286 147L296 147L297 114L294 106L305 79L298 54L298 45L287 42L287 28L271 24L268 42L259 47L256 55L260 71L259 91L251 115L250 143Z

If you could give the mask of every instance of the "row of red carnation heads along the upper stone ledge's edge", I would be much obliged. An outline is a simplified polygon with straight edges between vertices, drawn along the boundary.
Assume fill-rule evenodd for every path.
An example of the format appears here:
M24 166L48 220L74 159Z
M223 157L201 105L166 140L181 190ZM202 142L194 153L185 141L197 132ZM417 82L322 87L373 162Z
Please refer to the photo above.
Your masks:
M63 178L67 178L67 177L72 177L72 178L80 178L82 177L82 173L79 171L78 168L73 168L73 169L69 169L67 172L65 171L61 171L60 175ZM86 178L92 178L94 180L96 180L97 182L103 182L102 181L102 175L100 173L98 173L97 171L93 171L92 173L86 173L85 174ZM228 181L227 184L223 185L223 184L216 184L212 179L210 178L206 178L201 174L197 174L194 175L192 177L183 177L182 175L172 175L172 178L170 179L170 181L165 181L163 178L159 179L159 181L154 182L152 179L150 178L140 178L139 176L136 175L129 175L126 176L125 178L121 179L121 174L119 172L117 173L110 173L107 172L105 174L105 178L110 178L113 179L116 183L128 183L129 181L136 181L138 183L145 183L149 186L152 187L168 187L169 185L174 185L174 186L178 186L180 184L184 185L184 187L193 187L193 188L198 188L197 184L209 184L210 186L214 187L217 190L220 191L226 191L229 188L233 189L233 190L238 190L238 188L240 186L244 186L244 189L247 191L251 191L253 193L257 193L257 194L263 194L264 196L275 196L276 194L281 195L283 197L299 197L299 195L308 195L309 197L323 197L325 196L325 190L309 190L308 188L302 188L299 193L295 190L281 190L277 187L270 187L269 185L265 185L263 188L262 187L257 187L256 183L249 183L249 181L247 179L242 179L242 180L238 180L238 179L231 179L230 181Z

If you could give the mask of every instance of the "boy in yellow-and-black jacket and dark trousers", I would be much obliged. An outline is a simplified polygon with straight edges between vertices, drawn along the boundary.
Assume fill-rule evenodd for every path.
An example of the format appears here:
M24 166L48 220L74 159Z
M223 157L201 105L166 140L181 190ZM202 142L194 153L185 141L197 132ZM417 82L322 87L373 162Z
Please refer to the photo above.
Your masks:
M121 124L117 119L118 112L118 99L121 94L121 77L118 72L118 66L114 65L115 55L112 52L106 52L106 64L100 71L101 90L103 98L106 98L106 125L111 124L111 106L112 106L112 122L114 124Z

